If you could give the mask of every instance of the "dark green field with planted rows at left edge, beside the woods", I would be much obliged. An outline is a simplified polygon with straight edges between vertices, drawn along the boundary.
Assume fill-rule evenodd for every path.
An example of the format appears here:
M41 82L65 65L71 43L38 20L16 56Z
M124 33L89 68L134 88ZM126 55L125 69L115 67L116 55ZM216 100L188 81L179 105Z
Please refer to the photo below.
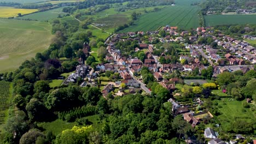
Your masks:
M9 82L0 81L0 124L4 123L5 116L7 116L6 110L8 109L8 102L10 97L9 88Z

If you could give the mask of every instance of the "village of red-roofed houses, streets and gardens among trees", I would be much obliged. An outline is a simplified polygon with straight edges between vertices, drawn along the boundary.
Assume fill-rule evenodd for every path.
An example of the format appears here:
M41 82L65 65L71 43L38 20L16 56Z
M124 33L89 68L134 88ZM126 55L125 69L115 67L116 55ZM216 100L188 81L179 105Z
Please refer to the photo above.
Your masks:
M152 94L148 85L150 81L158 82L172 94L168 102L172 104L174 116L183 115L184 121L192 127L210 121L214 116L203 108L204 101L200 98L181 102L176 100L177 96L185 97L182 88L176 86L181 87L181 83L189 86L210 83L217 87L215 83L206 81L206 76L203 76L206 69L212 69L210 78L208 77L210 80L224 72L241 70L246 74L253 69L252 64L256 63L256 49L245 40L230 38L220 32L214 32L211 28L199 27L192 32L178 32L177 29L166 26L160 31L113 34L105 41L105 63L92 66L79 59L80 65L75 73L69 75L63 83L82 79L81 87L97 86L107 99L110 95L115 97L135 93ZM203 42L207 40L210 41L208 45ZM127 44L120 45L121 43ZM172 43L179 47L163 47ZM84 44L83 51L89 56L90 46ZM148 73L142 74L145 70ZM247 99L247 102L250 103L250 99ZM218 128L219 124L216 125ZM237 140L245 140L245 137L238 134L234 139L224 142L218 138L218 131L211 128L206 128L204 135L209 139L209 144L233 144L237 143ZM186 141L194 142L192 138Z

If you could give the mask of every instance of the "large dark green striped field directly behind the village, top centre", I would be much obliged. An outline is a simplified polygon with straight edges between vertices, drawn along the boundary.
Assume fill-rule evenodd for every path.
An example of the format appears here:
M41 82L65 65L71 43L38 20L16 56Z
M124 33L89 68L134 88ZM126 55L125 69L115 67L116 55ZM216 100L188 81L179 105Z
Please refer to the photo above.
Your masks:
M154 13L144 14L135 21L135 25L124 29L121 32L155 31L160 26L178 26L189 29L199 26L200 10L197 6L170 6Z

